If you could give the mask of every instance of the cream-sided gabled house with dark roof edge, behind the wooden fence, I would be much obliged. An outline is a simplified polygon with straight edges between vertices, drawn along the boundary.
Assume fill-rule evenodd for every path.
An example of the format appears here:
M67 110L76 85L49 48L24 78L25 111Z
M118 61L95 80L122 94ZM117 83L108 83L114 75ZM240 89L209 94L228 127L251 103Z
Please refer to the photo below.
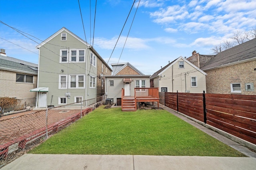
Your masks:
M151 78L151 87L158 87L159 92L206 92L206 73L192 63L179 57L167 64Z

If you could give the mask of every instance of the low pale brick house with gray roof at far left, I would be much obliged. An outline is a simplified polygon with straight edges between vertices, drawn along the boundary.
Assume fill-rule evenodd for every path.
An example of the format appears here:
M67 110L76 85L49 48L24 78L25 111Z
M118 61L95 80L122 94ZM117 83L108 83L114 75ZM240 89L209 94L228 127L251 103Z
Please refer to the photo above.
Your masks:
M35 106L36 92L29 92L37 86L38 64L6 56L0 52L0 96L16 98L22 106Z

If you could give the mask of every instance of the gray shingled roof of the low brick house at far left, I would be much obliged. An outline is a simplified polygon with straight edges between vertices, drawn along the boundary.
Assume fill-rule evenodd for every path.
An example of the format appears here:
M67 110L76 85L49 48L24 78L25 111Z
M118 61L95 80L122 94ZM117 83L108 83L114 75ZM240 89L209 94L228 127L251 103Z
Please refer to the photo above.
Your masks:
M37 75L38 73L37 64L14 59L12 57L9 57L9 58L11 59L8 59L8 57L3 57L0 55L0 69Z

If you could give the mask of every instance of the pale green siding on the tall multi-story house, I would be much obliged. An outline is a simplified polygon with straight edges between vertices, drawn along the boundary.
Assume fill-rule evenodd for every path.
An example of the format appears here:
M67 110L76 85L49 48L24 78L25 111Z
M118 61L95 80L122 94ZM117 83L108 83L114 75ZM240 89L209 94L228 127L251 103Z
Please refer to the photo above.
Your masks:
M66 33L62 31L62 33ZM64 97L66 92L70 92L70 99L67 98L67 104L74 103L75 96L83 96L83 100L96 98L96 88L88 89L59 89L59 75L86 75L86 64L87 64L87 75L97 76L97 65L90 67L90 49L86 52L86 45L80 42L78 39L67 33L67 40L60 41L61 33L56 37L51 39L48 43L40 47L40 56L39 56L39 82L38 87L49 87L47 105L58 106L58 97ZM85 50L85 63L60 63L60 50L61 49L84 49ZM86 54L88 55L86 57ZM97 57L96 57L97 60ZM97 64L97 61L96 61ZM64 70L62 72L62 70ZM88 76L85 76L86 86L90 86L90 79ZM97 78L96 78L97 81ZM97 82L96 82L97 84ZM85 95L87 94L87 95ZM52 102L51 102L51 96ZM86 102L84 102L85 105ZM94 103L88 101L87 105Z

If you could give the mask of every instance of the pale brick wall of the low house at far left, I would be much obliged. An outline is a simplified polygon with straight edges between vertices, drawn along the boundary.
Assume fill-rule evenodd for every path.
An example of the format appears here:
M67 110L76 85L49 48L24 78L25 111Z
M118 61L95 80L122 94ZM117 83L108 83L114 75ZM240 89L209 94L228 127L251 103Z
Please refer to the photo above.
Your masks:
M26 102L27 106L35 106L36 92L30 92L30 89L37 87L37 76L34 75L34 83L17 83L16 72L0 70L0 96L17 98L21 104Z

